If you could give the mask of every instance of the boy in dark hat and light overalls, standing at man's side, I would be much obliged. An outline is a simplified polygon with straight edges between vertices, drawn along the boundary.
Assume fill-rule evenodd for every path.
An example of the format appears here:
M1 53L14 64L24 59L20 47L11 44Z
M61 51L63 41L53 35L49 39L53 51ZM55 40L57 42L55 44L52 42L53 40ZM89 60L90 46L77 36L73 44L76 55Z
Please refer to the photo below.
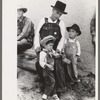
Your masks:
M77 60L80 60L81 47L79 41L76 40L76 37L81 35L81 31L77 24L73 24L66 29L68 31L68 38L66 39L64 48L66 58L63 59L63 61L67 63L67 66L65 66L65 73L67 72L65 74L66 81L80 82L78 79Z

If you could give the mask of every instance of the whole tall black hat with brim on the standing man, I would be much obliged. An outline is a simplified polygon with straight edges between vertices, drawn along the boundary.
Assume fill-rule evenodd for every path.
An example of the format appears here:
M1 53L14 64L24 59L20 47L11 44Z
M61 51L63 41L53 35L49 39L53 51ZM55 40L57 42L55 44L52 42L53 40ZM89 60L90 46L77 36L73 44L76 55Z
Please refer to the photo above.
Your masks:
M67 14L66 12L64 12L65 8L66 8L66 4L61 2L61 1L57 1L55 6L52 6L54 9L58 10L59 12L61 12L62 14Z

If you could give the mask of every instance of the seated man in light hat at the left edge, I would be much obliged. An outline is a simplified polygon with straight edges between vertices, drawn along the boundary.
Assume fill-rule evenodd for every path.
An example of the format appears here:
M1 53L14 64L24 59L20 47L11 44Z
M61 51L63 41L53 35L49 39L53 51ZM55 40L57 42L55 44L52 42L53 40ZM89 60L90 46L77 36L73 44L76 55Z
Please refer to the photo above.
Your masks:
M19 7L17 12L17 54L19 54L33 46L34 25L29 18L23 16L27 8Z

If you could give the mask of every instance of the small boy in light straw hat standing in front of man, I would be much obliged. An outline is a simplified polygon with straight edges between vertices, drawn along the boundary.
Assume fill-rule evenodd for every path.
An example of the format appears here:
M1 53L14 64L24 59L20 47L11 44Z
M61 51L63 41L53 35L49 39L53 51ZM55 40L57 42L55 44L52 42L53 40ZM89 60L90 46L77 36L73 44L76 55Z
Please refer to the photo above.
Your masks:
M53 58L53 45L55 38L51 35L44 37L41 40L43 50L39 54L39 63L43 69L44 77L44 93L42 95L43 100L47 100L48 96L53 95L55 100L59 100L55 90L55 78L54 78L54 58Z

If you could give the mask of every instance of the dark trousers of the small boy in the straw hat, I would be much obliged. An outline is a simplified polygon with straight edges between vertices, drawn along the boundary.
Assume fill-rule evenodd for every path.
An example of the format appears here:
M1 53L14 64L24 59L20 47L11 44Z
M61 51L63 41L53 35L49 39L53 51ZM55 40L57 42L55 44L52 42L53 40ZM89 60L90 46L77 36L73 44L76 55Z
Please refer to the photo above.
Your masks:
M56 94L54 72L51 71L48 67L46 67L43 69L43 77L44 94L46 94L47 96Z

